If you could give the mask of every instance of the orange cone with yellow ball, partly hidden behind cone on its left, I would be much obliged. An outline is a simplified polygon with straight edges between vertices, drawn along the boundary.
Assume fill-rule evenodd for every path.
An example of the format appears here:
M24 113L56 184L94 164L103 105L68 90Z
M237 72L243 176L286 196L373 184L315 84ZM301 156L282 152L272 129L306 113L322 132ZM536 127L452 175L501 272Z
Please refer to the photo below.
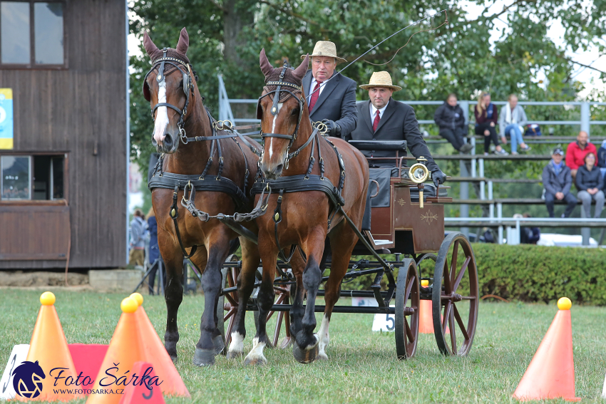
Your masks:
M139 304L139 308L135 311L135 318L137 318L138 328L140 331L141 341L143 342L143 355L145 361L152 364L153 370L158 375L158 378L162 380L160 388L165 395L183 395L190 397L188 388L185 387L183 379L179 375L175 364L168 356L164 344L160 341L158 333L155 332L155 328L143 309L143 296L138 293L130 295L131 298L135 299Z

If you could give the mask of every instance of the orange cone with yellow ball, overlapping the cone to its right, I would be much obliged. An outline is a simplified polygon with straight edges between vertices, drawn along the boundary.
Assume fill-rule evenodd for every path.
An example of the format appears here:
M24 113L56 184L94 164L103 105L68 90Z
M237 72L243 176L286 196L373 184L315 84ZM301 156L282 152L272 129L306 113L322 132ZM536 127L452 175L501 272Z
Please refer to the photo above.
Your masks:
M137 301L130 297L120 304L122 315L118 320L118 326L115 327L106 357L103 358L101 369L97 373L86 404L118 404L123 389L127 387L125 383L131 378L130 371L135 362L143 359L143 344L135 318L138 306Z

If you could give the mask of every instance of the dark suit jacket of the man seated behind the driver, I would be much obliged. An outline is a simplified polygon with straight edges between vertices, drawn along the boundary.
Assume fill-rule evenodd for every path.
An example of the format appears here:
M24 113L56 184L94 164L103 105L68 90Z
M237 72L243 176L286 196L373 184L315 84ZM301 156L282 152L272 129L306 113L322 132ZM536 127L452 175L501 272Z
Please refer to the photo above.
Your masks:
M389 104L383 113L383 118L379 121L376 132L372 131L372 122L370 118L370 100L356 105L358 110L358 125L346 140L406 140L408 148L414 157L425 157L426 166L429 171L439 170L438 165L427 148L423 135L418 130L418 122L414 115L414 109L394 98L389 98ZM396 157L396 152L362 151L366 157ZM404 153L406 155L406 153ZM400 155L401 157L401 155ZM373 164L379 165L378 162ZM385 165L382 163L381 165ZM389 165L393 165L390 163Z

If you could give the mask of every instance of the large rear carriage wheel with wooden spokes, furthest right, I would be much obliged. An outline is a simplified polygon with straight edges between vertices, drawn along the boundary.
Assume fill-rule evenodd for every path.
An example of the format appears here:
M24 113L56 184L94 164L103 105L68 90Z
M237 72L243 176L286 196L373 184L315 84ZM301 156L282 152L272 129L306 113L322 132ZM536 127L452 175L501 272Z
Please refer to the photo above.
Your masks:
M467 355L478 321L478 269L471 244L462 233L448 234L442 242L431 300L433 333L441 353Z

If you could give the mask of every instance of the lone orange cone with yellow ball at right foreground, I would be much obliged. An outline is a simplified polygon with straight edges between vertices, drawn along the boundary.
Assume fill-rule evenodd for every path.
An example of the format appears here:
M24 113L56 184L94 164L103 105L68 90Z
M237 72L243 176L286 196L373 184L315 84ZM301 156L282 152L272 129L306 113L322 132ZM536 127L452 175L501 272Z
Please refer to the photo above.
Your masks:
M540 343L513 397L518 400L575 398L575 363L572 360L572 324L567 297L558 300L558 314Z

